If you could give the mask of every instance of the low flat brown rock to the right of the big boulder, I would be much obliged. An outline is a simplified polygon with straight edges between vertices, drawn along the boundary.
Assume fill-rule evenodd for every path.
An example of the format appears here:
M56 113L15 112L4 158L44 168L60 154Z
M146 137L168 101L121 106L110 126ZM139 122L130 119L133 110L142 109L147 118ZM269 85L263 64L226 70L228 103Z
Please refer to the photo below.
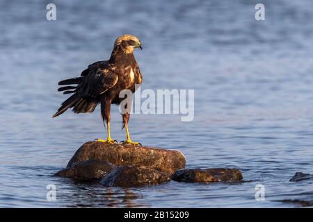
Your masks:
M236 182L243 179L238 169L181 169L172 180L178 182Z

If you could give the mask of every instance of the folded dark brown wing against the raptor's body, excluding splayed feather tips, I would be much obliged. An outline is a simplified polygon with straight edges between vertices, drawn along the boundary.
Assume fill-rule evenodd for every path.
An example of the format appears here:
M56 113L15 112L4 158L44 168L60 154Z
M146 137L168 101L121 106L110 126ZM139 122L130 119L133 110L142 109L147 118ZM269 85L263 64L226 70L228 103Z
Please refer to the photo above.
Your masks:
M118 74L107 65L100 65L89 70L82 83L77 87L77 93L83 98L97 98L117 82Z

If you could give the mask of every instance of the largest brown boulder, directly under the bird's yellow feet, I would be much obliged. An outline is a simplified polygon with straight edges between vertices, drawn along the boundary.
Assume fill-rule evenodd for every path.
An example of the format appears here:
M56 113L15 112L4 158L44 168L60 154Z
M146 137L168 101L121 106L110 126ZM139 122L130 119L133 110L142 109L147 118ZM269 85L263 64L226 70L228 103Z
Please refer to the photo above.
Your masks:
M183 169L186 165L186 159L180 151L147 146L87 142L77 150L67 167L86 160L104 160L116 166L150 167L168 175L172 175L177 169Z

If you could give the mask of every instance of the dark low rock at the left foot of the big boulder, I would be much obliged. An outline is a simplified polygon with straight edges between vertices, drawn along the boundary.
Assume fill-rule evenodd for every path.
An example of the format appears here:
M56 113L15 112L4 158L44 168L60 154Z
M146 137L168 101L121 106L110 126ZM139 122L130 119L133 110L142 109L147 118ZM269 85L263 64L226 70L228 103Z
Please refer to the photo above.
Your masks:
M115 166L103 160L88 160L73 164L72 167L58 171L55 176L64 176L75 180L101 179L110 173Z

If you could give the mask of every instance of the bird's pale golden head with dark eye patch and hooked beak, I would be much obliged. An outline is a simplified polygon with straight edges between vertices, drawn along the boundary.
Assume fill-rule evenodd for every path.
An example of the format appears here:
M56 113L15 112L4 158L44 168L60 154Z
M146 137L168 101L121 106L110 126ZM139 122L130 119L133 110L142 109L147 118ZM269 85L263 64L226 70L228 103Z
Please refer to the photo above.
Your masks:
M143 49L141 41L135 35L121 35L115 40L114 48L122 49L124 53L133 53L134 49Z

